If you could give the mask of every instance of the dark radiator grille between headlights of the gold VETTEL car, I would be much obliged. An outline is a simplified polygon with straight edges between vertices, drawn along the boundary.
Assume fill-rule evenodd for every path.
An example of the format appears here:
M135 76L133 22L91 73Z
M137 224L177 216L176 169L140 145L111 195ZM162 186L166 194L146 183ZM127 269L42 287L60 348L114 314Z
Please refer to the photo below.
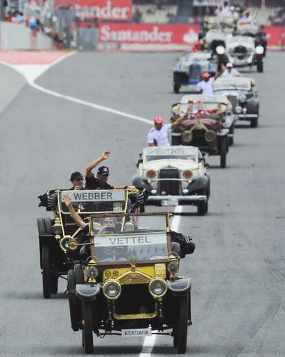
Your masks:
M122 285L122 292L115 303L116 314L151 314L155 310L155 300L149 294L148 284Z

